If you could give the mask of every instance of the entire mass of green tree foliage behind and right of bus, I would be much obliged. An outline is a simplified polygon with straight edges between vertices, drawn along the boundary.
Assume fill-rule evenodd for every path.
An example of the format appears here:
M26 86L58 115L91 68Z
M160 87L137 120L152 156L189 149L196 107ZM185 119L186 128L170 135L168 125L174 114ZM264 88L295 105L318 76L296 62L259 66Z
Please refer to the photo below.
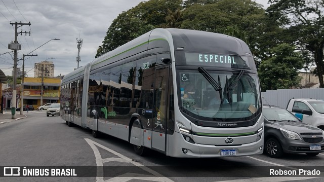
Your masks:
M324 70L324 26L320 11L323 4L319 0L269 2L272 5L266 12L252 0L142 2L113 20L96 57L154 28L218 32L248 44L257 60L262 90L297 87L298 69L303 63L307 65L315 59L319 68L316 71ZM296 52L290 45L303 51Z

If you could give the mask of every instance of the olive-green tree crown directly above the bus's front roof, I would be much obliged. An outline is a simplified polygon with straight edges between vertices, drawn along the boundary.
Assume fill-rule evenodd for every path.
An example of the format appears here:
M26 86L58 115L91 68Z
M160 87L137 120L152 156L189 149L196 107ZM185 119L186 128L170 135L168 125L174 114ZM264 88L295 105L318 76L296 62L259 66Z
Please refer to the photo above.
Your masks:
M254 1L190 0L185 1L185 6L181 28L239 36L239 39L248 43L253 55L262 55L260 45L269 45L260 41L264 36L263 29L266 28L266 15L262 5Z

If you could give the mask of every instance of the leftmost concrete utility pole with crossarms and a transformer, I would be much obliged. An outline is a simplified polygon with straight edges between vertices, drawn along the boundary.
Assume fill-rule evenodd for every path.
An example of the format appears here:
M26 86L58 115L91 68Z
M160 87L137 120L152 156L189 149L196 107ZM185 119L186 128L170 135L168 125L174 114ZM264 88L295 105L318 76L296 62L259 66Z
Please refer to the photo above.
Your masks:
M8 49L14 50L14 83L12 86L12 107L11 107L11 118L15 119L15 114L16 114L16 105L17 105L17 50L21 49L21 45L18 44L18 34L19 33L25 33L27 35L27 32L18 32L18 28L23 26L23 25L31 25L29 23L18 23L17 21L15 23L11 23L11 25L15 25L15 42L11 43L8 45ZM19 26L18 26L19 25ZM30 36L30 31L28 32Z

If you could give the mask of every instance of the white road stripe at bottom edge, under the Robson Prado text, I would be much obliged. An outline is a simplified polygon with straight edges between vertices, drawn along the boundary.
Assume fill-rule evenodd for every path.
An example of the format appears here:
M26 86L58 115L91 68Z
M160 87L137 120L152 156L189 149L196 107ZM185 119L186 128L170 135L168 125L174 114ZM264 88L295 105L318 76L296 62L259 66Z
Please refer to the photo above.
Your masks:
M256 177L256 178L248 178L248 179L234 179L234 180L224 180L217 182L280 182L280 181L291 181L291 180L306 180L317 177Z

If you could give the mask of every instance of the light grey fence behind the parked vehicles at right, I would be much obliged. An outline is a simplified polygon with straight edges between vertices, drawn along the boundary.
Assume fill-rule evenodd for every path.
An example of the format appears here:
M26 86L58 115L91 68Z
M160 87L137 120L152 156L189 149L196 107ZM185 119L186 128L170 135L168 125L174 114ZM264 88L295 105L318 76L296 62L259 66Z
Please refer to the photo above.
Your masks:
M288 101L292 98L314 98L324 100L324 88L315 89L279 89L279 90L267 90L261 92L262 104L276 105L282 108L286 108ZM266 101L267 102L266 102Z

